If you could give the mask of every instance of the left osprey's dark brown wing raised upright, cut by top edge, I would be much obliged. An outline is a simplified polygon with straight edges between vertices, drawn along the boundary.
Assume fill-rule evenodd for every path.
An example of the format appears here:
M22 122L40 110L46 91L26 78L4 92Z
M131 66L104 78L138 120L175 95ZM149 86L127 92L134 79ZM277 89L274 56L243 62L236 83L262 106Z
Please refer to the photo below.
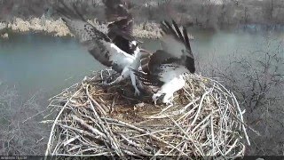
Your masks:
M122 0L103 0L103 3L106 5L106 20L110 22L107 26L107 36L124 52L133 54L135 48L132 48L130 44L135 40L132 36L133 17L126 3Z

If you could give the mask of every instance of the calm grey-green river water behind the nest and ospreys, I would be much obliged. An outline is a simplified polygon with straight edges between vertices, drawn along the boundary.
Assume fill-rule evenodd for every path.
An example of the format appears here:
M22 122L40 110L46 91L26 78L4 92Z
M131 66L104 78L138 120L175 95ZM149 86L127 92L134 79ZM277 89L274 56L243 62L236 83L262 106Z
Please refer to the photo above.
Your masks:
M206 61L225 61L233 54L248 54L266 47L284 45L282 31L191 29L193 54L198 64ZM142 39L143 46L154 51L160 48L157 40ZM0 39L0 84L14 85L23 99L43 92L43 104L54 94L83 76L104 68L78 44L74 38L42 34L10 34ZM200 69L201 71L201 69Z

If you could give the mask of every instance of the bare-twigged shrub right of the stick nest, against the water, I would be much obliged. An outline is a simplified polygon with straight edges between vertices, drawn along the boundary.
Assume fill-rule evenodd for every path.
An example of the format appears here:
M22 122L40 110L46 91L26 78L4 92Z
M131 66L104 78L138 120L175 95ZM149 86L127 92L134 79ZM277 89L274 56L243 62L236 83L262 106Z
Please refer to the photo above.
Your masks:
M264 49L234 55L227 68L215 68L218 76L239 98L248 112L248 124L259 132L250 132L249 155L282 155L284 113L284 47L267 38Z

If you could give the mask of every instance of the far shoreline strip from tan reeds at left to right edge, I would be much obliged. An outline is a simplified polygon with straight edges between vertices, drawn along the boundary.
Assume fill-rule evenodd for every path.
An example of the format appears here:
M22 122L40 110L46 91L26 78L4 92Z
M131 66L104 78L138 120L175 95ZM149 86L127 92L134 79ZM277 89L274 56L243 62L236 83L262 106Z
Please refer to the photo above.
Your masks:
M99 22L97 19L87 20L95 28L103 33L107 33L107 23ZM195 26L193 28L198 28ZM265 24L239 24L236 26L228 25L226 28L237 28L245 29L250 31L258 30L284 30L284 25L265 25ZM201 28L202 29L202 28ZM161 37L160 24L154 21L145 21L141 23L134 23L133 25L133 36L137 38L146 39L158 39ZM206 29L211 30L211 29ZM213 29L214 30L214 29ZM14 33L25 33L25 32L36 32L47 34L48 36L73 36L70 30L67 28L66 24L60 18L50 18L46 19L44 16L40 18L31 18L29 20L23 20L19 17L14 17L10 22L0 21L0 39L9 38L9 32ZM189 33L189 39L194 39L194 37Z

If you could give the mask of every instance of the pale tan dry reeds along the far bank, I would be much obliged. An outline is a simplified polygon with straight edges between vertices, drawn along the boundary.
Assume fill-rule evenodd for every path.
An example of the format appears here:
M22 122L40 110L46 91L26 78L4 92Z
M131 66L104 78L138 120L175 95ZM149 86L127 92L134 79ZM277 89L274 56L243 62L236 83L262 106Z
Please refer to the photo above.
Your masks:
M95 28L103 33L107 33L107 24L99 23L98 20L88 20ZM30 20L22 20L21 18L15 17L11 22L0 22L0 36L7 34L5 29L11 29L14 32L44 32L51 36L73 36L66 24L61 19L45 19L44 16L41 18L32 18ZM1 33L3 32L3 33ZM161 37L161 28L158 23L146 21L140 24L134 24L133 36L138 38L157 39ZM193 36L188 35L190 39ZM3 37L4 38L4 37Z

